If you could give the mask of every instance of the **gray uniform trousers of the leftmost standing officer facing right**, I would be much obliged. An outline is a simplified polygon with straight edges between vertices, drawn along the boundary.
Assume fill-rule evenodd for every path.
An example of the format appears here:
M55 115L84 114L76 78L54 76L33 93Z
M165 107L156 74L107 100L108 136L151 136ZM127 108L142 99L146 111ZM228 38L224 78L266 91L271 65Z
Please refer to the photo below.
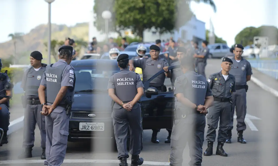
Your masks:
M29 105L27 104L24 112L24 134L23 134L23 148L33 147L35 141L35 128L38 124L41 134L41 147L45 148L46 131L45 131L45 117L41 114L41 104Z

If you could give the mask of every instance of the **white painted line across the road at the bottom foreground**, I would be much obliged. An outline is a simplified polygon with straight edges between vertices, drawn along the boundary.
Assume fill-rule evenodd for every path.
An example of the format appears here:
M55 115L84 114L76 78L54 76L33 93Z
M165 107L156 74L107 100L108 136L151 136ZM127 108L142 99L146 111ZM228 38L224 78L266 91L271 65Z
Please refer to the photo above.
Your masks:
M44 160L5 160L0 161L0 164L32 164L32 163L44 163ZM119 160L85 160L85 159L65 159L63 163L105 163L105 164L118 164ZM128 164L131 161L127 161ZM169 162L153 162L144 161L144 165L169 165Z

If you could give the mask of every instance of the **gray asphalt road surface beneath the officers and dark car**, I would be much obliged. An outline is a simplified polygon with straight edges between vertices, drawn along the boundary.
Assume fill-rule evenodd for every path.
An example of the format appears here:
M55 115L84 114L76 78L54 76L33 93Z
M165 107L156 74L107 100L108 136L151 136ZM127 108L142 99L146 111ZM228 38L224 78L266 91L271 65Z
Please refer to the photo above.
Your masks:
M219 72L221 70L220 60L213 59L208 61L206 67L207 77L209 74ZM262 80L267 81L267 80ZM169 80L167 80L169 82ZM244 132L244 139L247 140L247 144L240 144L237 142L237 132L234 129L232 134L232 144L225 144L224 149L228 153L228 157L221 157L218 155L203 156L203 164L206 166L259 166L277 165L278 144L275 140L278 139L276 120L277 115L277 98L269 92L262 90L253 82L248 82L249 91L247 93L247 117L246 121L247 129ZM274 112L275 111L275 112ZM272 115L272 116L271 116ZM255 116L255 117L254 117ZM256 118L257 117L257 118ZM234 120L234 126L236 126L236 120ZM206 127L207 130L207 127ZM150 142L152 135L151 130L144 130L143 134L143 146L144 149L140 154L140 157L144 158L143 165L165 165L169 158L170 144L165 144L164 140L167 138L168 132L162 129L158 134L160 144L153 144ZM205 134L206 135L206 134ZM36 129L36 141L33 148L33 158L25 161L26 164L11 164L17 162L17 156L21 151L23 132L18 131L9 136L9 144L0 147L0 166L4 165L43 165L43 161L40 160L41 148L40 148L40 135L38 129ZM66 160L63 166L74 165L95 165L95 166L110 166L118 165L117 152L111 152L111 150L105 149L107 144L105 142L81 142L72 143L68 142L68 149L66 153ZM214 144L214 153L216 150L217 142ZM94 148L97 147L97 148ZM207 148L207 142L203 144L203 151ZM184 162L183 165L187 165L190 158L188 156L188 148L185 148L183 153ZM79 159L87 159L88 163L81 163ZM9 160L9 161L3 161ZM12 161L11 161L12 160ZM85 160L82 160L85 161ZM105 162L110 164L97 164L94 162ZM159 162L159 163L154 163ZM160 163L165 162L165 163ZM23 163L23 162L21 162ZM38 164L41 163L41 164Z

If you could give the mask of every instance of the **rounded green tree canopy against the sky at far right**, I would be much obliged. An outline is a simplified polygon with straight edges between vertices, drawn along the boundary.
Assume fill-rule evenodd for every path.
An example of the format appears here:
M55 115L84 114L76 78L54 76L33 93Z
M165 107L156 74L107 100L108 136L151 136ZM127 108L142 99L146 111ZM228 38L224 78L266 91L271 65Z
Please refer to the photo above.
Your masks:
M246 27L235 36L235 43L251 45L256 36L269 37L269 45L278 44L278 29L274 26Z

